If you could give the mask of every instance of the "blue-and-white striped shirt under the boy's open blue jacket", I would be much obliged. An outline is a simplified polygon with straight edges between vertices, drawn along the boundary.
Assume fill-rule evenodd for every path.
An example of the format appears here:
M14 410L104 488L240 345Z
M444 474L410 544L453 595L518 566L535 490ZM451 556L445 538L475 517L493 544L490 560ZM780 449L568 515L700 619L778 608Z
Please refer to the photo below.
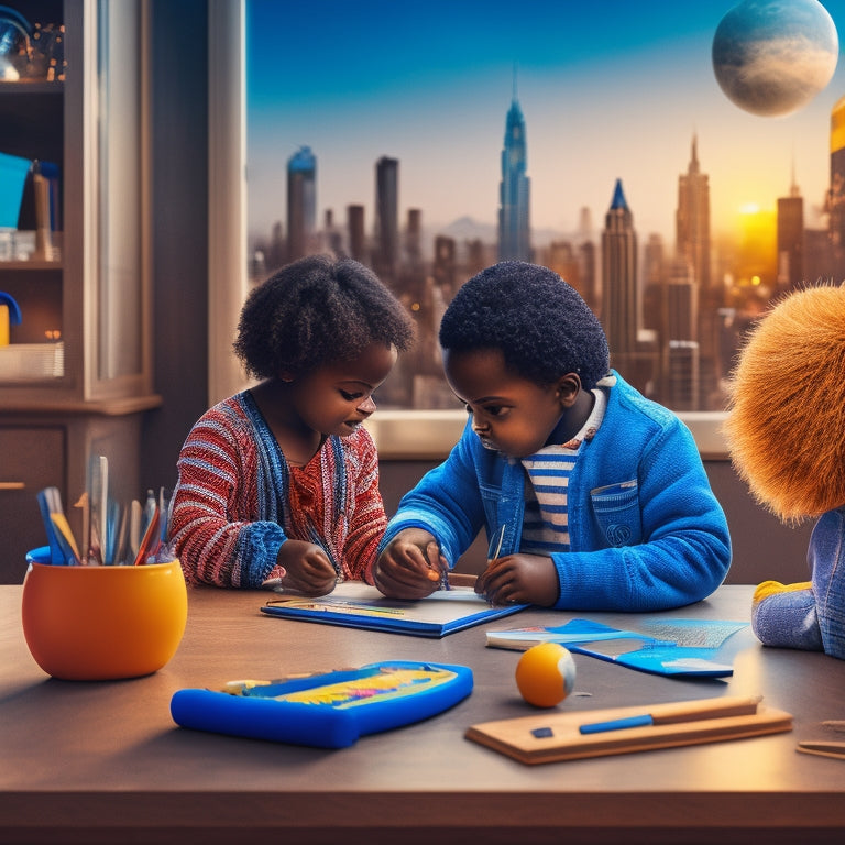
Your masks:
M519 551L551 555L569 551L569 476L584 441L592 440L604 418L607 395L594 389L595 403L581 430L566 443L546 446L523 458L529 484L525 485L525 516Z

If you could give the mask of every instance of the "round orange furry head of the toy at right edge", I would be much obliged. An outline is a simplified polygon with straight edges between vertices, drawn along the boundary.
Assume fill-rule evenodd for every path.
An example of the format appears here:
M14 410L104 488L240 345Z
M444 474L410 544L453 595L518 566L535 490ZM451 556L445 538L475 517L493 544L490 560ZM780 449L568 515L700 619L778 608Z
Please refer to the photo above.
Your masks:
M791 294L739 354L724 426L753 495L782 522L845 505L845 287Z

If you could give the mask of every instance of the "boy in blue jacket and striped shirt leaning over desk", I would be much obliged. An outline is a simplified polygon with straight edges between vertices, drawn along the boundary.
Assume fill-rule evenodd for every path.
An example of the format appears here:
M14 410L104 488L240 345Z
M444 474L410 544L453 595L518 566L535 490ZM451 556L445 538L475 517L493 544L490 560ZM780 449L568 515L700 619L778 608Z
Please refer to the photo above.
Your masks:
M495 604L658 611L722 583L727 522L692 435L611 371L560 276L487 267L449 305L440 345L470 419L399 502L373 567L382 593L429 595L482 526L500 548L475 591Z

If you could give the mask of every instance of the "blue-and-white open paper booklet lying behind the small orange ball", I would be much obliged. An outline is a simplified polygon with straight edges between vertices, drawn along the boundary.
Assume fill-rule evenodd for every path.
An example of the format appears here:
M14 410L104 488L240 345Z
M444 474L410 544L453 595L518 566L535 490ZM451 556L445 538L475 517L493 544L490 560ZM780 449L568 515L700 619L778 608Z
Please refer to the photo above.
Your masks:
M728 640L748 628L746 622L714 619L644 619L638 630L619 630L591 619L566 625L489 630L486 645L524 651L538 643L559 643L588 655L651 674L725 678L733 674ZM742 646L743 641L732 644Z

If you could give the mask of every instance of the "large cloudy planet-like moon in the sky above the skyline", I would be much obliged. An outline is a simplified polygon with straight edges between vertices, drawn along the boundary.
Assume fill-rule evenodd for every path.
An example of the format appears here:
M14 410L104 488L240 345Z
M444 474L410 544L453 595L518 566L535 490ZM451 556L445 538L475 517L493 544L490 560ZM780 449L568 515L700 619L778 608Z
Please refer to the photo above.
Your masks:
M744 0L713 37L713 70L728 99L761 117L789 114L831 81L836 25L816 0Z

